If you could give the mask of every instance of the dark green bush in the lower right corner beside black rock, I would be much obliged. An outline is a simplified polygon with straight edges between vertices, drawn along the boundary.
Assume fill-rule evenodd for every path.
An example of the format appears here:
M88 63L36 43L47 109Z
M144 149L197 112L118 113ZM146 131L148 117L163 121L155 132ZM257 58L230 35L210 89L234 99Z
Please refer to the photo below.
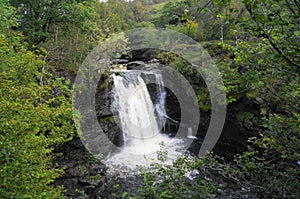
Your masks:
M299 114L271 115L263 125L266 130L226 172L261 198L299 198Z

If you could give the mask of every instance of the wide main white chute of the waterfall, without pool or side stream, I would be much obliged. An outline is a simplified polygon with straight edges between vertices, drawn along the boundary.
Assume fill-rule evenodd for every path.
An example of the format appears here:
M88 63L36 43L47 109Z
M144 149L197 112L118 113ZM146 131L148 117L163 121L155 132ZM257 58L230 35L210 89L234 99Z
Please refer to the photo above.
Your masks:
M113 74L114 106L119 112L126 146L143 145L146 139L159 134L155 109L139 71ZM164 109L164 107L161 107Z

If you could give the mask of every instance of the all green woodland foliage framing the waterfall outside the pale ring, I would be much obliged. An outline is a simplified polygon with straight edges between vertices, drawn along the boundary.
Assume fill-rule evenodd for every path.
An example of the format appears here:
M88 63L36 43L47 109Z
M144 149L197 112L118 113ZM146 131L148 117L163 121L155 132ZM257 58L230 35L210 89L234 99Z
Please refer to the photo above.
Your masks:
M0 198L63 197L61 187L51 186L63 173L52 151L75 131L68 78L93 47L137 27L164 27L201 42L219 67L228 104L258 111L234 115L256 132L244 153L229 162L184 157L156 165L142 175L136 197L207 198L222 186L213 174L259 198L300 197L298 1L0 0L0 13ZM190 81L209 111L206 85L186 60L169 52L158 58ZM185 174L195 169L201 175L189 180Z

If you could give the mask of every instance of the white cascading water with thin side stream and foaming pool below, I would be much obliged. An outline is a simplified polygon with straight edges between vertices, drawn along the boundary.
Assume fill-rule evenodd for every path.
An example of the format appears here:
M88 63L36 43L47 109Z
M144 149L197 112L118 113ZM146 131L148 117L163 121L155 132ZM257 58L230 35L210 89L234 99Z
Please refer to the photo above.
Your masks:
M160 128L168 118L162 76L159 73L152 74L155 75L157 84L157 100L154 105L140 75L141 71L133 70L124 71L122 75L112 74L113 107L118 110L124 146L119 153L112 155L108 162L132 169L137 165L149 166L153 162L158 162L157 151L160 150L162 142L166 146L170 161L179 155L174 146L180 141L161 134Z

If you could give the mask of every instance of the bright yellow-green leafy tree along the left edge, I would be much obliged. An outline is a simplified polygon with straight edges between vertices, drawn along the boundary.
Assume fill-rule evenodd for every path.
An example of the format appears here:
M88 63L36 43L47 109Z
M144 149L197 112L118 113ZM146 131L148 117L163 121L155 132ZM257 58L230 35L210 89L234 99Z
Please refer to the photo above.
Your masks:
M61 188L50 184L62 169L51 151L72 138L71 92L62 79L41 74L42 57L12 30L14 8L1 0L0 10L0 197L59 198Z

